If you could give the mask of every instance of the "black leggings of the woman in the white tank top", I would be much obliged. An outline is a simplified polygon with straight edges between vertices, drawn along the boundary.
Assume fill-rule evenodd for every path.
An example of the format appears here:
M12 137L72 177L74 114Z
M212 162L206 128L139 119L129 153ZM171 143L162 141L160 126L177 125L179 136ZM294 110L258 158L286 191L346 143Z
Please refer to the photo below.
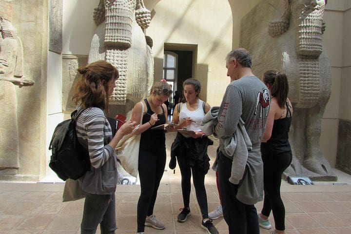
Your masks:
M208 218L207 195L205 189L205 175L207 174L207 171L204 172L203 170L199 169L196 165L188 165L187 156L177 156L177 161L182 177L181 187L184 207L189 207L191 176L193 173L193 183L195 187L196 199L201 210L202 219Z

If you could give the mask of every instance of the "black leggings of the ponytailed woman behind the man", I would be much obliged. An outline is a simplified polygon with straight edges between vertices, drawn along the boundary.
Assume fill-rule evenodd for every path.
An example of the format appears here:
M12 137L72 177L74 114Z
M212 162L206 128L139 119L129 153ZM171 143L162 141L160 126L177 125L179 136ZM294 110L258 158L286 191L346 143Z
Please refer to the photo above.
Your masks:
M262 154L264 201L261 214L269 216L273 211L275 229L285 230L285 207L280 197L281 177L292 162L292 153L279 155Z

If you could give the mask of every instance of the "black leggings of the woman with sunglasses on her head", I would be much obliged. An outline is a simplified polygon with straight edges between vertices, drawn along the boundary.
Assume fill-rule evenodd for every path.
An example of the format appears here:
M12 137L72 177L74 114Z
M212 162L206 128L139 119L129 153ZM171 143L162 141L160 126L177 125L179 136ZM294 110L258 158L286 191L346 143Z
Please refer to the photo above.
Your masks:
M139 149L139 178L141 193L137 204L137 232L145 229L146 216L154 213L158 186L166 165L166 149L161 153L150 153Z

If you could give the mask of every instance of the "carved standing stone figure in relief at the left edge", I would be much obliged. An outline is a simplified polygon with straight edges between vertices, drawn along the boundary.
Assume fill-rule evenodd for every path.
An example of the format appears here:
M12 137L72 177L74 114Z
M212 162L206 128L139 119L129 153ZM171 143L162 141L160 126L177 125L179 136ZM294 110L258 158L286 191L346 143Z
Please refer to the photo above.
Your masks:
M16 175L20 168L15 85L30 86L23 76L23 51L17 30L0 17L0 175Z

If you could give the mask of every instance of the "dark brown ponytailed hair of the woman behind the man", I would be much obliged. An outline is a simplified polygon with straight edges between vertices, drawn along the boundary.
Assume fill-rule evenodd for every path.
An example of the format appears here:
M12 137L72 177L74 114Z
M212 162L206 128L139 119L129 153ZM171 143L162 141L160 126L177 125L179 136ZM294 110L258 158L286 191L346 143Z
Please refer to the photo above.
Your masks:
M284 73L277 70L268 70L263 74L263 82L271 87L271 96L277 99L280 108L283 108L289 94L289 82Z

